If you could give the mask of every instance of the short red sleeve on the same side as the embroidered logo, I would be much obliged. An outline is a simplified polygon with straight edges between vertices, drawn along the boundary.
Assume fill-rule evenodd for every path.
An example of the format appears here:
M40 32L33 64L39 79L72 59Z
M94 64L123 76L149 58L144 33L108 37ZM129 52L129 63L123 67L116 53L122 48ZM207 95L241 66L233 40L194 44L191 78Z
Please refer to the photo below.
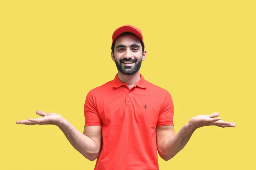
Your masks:
M157 126L173 125L174 107L172 96L167 92L163 101L162 111L159 113Z

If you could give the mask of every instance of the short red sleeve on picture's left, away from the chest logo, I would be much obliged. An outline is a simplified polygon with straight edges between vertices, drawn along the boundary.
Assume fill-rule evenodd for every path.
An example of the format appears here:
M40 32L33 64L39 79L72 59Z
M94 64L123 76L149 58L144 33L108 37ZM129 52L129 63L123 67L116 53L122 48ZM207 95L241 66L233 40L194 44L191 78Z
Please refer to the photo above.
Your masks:
M102 124L91 91L87 94L85 99L84 118L84 126L101 126Z

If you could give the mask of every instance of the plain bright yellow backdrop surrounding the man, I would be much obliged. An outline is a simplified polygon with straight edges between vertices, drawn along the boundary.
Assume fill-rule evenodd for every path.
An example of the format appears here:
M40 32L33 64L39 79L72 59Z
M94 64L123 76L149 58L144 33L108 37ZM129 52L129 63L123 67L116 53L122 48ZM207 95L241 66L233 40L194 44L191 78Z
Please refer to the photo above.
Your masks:
M255 1L0 1L0 169L92 170L54 125L17 125L56 112L80 132L86 94L114 78L111 36L142 30L141 73L168 90L176 133L219 112L236 128L203 127L160 170L255 168Z

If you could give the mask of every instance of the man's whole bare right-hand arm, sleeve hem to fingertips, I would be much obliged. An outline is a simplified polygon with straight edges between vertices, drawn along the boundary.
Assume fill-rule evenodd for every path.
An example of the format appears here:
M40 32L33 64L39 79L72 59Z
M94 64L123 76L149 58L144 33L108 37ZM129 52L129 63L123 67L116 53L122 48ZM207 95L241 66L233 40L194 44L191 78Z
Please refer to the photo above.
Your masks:
M177 134L174 133L172 125L157 126L157 149L160 157L168 161L173 158L181 149L185 147L192 134L197 128L203 126L215 125L219 127L235 127L236 124L226 122L215 118L219 116L218 113L211 115L199 115L193 117L186 123Z

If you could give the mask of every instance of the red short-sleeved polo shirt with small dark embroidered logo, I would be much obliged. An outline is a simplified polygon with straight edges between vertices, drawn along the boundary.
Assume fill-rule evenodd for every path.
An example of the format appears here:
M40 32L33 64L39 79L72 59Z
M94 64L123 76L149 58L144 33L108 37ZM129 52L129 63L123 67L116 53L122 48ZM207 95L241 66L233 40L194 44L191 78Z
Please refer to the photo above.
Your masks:
M170 93L140 80L131 89L118 74L91 90L85 126L102 126L102 150L94 170L158 170L156 126L173 125Z

